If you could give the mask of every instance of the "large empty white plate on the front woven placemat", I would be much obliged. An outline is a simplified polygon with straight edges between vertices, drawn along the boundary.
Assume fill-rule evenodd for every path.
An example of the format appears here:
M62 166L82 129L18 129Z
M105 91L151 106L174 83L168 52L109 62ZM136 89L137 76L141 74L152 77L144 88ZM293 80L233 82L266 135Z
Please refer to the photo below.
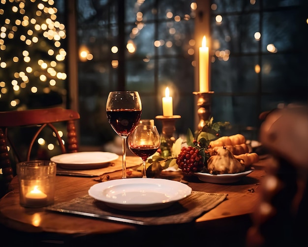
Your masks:
M126 211L163 209L189 196L192 189L161 178L122 178L93 185L89 195L107 206Z

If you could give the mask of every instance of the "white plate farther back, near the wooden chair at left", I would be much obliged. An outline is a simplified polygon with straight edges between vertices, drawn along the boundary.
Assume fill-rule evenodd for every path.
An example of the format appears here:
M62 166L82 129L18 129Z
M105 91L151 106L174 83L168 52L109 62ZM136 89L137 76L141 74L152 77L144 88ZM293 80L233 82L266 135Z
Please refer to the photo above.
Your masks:
M119 155L115 153L94 151L63 153L51 157L50 160L65 169L87 170L107 167L111 161L118 158Z

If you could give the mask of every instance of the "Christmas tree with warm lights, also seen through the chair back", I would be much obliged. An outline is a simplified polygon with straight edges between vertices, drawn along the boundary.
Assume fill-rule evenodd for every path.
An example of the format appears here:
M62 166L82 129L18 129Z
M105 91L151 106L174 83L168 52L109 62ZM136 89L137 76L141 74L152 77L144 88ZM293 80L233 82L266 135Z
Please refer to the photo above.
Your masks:
M66 33L54 0L0 1L0 111L63 105ZM64 125L60 130L66 132ZM13 131L11 139L18 138L20 149L34 133L30 128L27 131L28 135ZM38 137L38 144L36 153L49 149L55 155L59 149L48 128Z

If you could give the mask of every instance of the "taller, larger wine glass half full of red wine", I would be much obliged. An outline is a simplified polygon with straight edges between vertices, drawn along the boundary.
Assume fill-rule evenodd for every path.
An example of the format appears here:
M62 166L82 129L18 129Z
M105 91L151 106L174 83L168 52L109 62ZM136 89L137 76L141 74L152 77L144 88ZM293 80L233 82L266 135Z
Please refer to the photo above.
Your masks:
M138 92L110 92L106 103L108 122L122 137L122 178L126 178L126 138L137 126L141 117L141 100Z

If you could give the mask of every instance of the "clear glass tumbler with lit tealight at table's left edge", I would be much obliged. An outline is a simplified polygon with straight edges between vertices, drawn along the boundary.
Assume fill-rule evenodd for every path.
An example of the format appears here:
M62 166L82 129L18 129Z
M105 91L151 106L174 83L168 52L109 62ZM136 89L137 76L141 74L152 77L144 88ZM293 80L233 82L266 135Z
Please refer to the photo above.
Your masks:
M54 203L57 165L48 160L20 162L16 165L20 185L20 205L45 207Z

